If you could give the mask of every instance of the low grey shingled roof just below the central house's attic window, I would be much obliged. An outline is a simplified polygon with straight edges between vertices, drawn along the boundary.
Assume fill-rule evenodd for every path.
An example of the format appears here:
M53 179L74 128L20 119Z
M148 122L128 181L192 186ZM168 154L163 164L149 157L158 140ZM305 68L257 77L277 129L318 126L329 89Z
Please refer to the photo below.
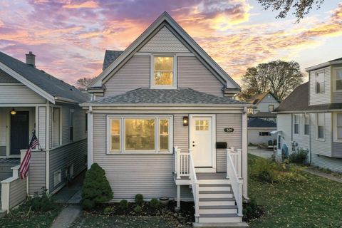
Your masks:
M121 95L94 100L93 104L248 104L232 98L218 97L191 88L150 89L139 88Z

